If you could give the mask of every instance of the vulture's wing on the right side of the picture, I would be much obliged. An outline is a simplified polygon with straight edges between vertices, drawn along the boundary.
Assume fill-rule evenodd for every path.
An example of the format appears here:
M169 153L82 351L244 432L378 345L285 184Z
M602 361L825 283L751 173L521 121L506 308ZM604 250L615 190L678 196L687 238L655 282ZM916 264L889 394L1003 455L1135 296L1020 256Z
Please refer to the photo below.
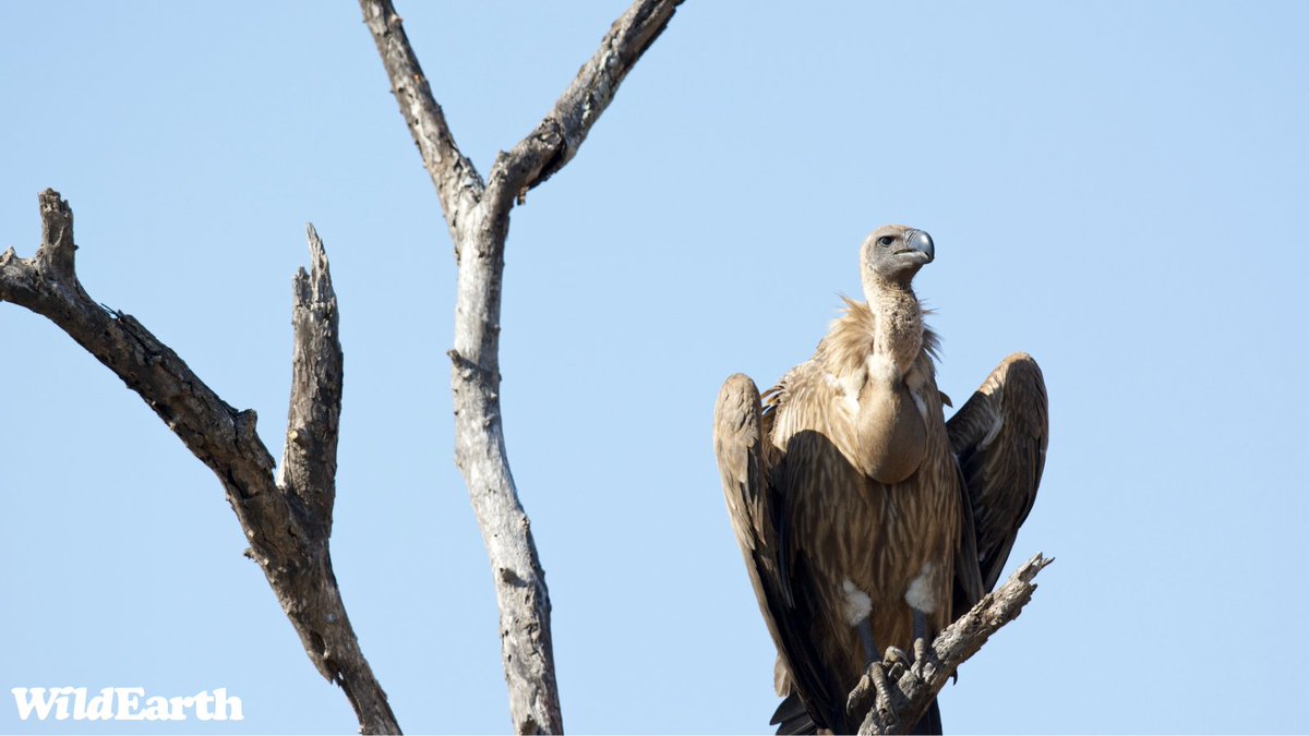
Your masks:
M1046 465L1050 410L1037 361L1025 352L1005 358L945 426L973 502L978 561L991 591Z

